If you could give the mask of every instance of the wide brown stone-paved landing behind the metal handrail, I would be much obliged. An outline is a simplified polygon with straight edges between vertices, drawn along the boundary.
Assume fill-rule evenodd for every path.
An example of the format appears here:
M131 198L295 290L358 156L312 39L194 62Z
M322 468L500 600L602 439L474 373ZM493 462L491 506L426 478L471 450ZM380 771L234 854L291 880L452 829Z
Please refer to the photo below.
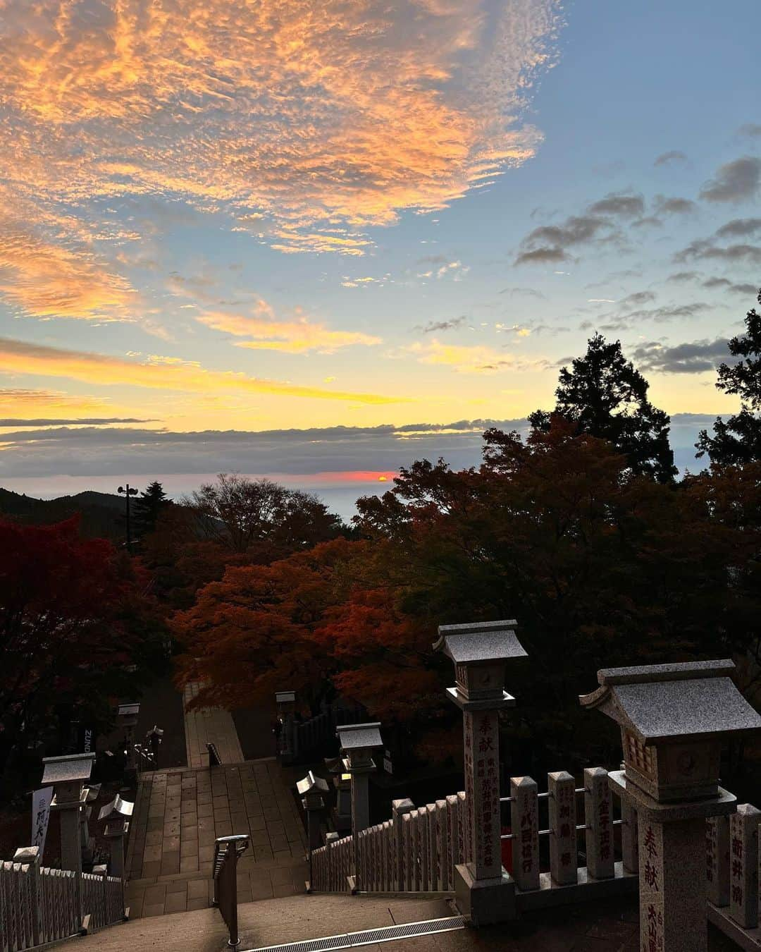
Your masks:
M238 866L241 902L302 892L296 779L274 758L141 774L127 855L131 917L205 908L214 841L232 833L250 837Z

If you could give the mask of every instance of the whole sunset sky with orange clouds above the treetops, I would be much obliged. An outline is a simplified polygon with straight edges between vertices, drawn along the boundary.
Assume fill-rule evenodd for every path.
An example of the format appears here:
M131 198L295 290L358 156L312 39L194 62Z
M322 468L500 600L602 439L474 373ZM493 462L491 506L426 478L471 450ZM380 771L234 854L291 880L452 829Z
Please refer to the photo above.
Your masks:
M757 0L0 0L0 483L348 499L478 463L595 330L696 468L761 284L759 33Z

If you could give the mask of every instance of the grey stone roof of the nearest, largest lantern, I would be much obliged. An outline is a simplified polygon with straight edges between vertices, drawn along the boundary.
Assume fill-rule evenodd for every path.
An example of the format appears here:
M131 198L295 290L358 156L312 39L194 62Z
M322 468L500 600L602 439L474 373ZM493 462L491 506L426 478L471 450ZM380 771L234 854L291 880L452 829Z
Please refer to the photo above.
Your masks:
M605 668L579 701L599 707L644 744L714 740L761 728L761 717L728 676L732 661Z

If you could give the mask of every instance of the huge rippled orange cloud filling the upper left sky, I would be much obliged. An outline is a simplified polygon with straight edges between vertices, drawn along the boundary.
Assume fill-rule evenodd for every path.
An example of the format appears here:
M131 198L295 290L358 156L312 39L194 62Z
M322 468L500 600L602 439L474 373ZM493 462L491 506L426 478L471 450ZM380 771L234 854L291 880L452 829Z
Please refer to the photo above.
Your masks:
M371 226L525 161L520 115L559 0L3 0L2 293L30 314L130 310L107 203L180 199L287 253L359 256ZM58 253L49 250L58 248Z

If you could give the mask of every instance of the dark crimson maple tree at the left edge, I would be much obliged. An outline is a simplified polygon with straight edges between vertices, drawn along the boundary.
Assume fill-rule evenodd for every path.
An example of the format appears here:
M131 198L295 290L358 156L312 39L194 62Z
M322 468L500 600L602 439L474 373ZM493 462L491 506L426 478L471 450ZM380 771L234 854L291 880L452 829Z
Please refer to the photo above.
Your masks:
M132 693L161 654L160 619L103 539L77 520L54 526L0 522L0 763L5 783L24 751L46 738L55 711ZM137 674L129 668L138 665Z

